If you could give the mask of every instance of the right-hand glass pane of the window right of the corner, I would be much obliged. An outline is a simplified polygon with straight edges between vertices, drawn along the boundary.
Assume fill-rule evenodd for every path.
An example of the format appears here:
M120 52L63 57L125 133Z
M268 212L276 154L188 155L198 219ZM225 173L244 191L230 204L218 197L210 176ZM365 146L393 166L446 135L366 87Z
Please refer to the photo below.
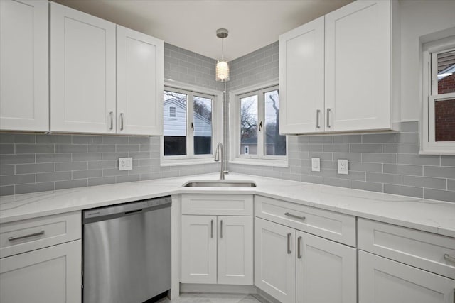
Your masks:
M286 155L286 136L279 135L278 90L264 93L265 155Z

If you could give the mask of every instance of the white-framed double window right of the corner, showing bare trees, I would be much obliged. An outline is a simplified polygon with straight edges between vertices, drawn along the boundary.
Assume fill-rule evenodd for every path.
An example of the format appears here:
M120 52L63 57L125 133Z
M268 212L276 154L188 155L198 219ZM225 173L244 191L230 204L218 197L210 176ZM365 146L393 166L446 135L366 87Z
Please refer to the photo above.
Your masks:
M279 135L278 87L231 94L231 162L287 166L287 139Z

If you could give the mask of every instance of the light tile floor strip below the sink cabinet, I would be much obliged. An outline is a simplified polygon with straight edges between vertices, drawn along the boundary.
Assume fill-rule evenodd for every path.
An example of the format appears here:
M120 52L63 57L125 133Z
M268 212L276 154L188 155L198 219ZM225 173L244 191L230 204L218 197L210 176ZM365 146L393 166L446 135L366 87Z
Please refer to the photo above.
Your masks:
M191 293L181 293L180 297L174 300L164 298L159 300L157 303L210 303L210 302L220 302L220 303L265 303L267 300L264 300L262 297L257 294L221 294L221 293L201 293L201 292L191 292Z

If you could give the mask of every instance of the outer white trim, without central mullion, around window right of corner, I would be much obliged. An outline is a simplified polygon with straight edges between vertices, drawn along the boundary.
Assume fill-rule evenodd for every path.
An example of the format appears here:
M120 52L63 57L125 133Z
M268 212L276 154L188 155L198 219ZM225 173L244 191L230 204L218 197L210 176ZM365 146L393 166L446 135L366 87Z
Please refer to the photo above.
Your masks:
M285 156L273 156L264 155L262 158L255 158L255 155L239 155L240 146L240 101L239 96L242 94L248 94L255 92L260 89L267 89L269 87L275 87L278 85L277 81L267 82L259 85L253 85L250 87L244 87L242 89L236 89L229 93L229 137L230 137L230 157L229 162L232 164L245 164L245 165L262 165L262 166L274 166L274 167L289 167L288 155L289 155L289 137L286 136L286 155ZM260 105L259 105L260 106ZM258 138L259 145L259 138Z

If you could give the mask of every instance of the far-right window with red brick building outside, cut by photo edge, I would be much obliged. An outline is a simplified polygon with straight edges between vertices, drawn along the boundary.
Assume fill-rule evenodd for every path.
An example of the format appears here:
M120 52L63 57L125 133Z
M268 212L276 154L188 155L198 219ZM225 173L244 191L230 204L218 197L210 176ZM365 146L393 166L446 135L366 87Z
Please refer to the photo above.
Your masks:
M424 48L422 152L455 154L455 39Z

